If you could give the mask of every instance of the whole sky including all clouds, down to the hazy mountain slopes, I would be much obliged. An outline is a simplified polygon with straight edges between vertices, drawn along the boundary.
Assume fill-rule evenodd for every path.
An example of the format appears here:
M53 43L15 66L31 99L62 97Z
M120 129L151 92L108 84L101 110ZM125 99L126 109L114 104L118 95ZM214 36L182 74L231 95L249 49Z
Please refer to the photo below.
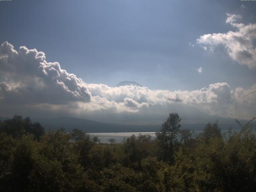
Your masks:
M255 10L240 0L0 1L0 115L115 122L179 104L250 119ZM144 87L113 87L124 80Z

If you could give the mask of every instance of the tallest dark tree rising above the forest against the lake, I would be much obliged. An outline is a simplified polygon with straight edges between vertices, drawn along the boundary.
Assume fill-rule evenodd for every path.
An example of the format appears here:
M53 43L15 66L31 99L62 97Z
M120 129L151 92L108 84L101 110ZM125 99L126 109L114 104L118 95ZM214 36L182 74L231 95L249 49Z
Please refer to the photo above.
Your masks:
M180 130L181 118L178 113L170 113L166 122L162 124L160 132L156 132L156 138L161 150L163 161L174 161L174 143L177 141L177 135Z

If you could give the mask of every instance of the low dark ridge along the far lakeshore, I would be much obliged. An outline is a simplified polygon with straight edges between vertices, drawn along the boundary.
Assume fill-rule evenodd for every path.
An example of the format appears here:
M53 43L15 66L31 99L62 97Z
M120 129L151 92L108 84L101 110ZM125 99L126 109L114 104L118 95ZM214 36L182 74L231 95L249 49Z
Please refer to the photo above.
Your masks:
M233 130L240 129L239 125L231 118L221 118L221 117L213 117L212 121L214 122L216 119L219 119L219 125L222 130L228 130L231 126ZM32 118L33 122L40 122L42 126L46 130L57 130L60 128L65 128L66 131L71 131L74 128L79 128L84 132L88 133L96 133L96 132L156 132L161 128L161 124L159 125L128 125L128 124L111 124L111 123L102 123L87 119L79 119L79 118L70 118L70 117L62 117L62 118L53 118L53 119L37 119ZM246 120L240 120L242 124L245 124ZM196 123L196 124L186 124L181 123L181 129L190 129L194 131L203 130L205 123Z

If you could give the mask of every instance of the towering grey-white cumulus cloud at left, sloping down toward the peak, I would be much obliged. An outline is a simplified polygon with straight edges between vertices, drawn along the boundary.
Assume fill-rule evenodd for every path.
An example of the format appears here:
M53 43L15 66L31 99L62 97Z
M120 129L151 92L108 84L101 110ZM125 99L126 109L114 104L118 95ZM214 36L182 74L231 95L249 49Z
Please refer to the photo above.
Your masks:
M46 62L44 52L22 46L18 51L8 42L0 46L1 92L5 102L52 103L90 101L86 83ZM4 94L3 94L4 93Z

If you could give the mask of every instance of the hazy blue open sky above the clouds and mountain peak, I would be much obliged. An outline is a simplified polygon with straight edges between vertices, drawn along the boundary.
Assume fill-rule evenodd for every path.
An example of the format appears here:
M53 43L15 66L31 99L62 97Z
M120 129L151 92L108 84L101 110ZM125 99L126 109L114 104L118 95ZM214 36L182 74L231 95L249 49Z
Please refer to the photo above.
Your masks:
M190 92L226 83L232 94L254 86L256 61L241 62L225 48L230 44L203 36L238 31L227 14L253 24L255 10L256 2L240 0L12 0L0 2L0 43L36 48L87 84L131 80Z

